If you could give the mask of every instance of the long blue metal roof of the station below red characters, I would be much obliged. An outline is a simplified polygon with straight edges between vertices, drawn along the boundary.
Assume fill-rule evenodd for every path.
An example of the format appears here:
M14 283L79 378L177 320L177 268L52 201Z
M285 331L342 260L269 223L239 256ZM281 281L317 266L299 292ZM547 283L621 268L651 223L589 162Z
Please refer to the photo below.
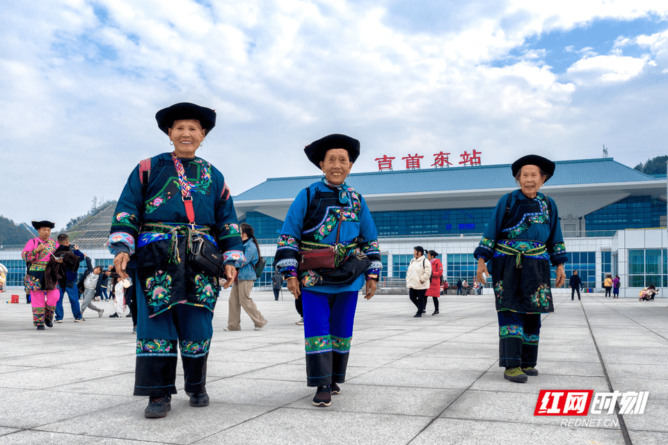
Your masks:
M547 186L655 181L612 158L556 161L555 175ZM472 167L425 168L385 172L351 173L346 183L362 195L456 191L481 188L515 188L511 164ZM294 198L322 175L269 178L234 197L238 201Z

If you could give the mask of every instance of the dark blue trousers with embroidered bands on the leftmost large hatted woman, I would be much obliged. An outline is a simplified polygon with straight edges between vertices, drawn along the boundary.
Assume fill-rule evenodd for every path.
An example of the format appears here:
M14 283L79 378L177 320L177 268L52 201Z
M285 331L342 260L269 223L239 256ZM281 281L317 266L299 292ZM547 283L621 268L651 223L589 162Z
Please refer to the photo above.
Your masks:
M136 275L135 279L138 279ZM141 286L133 286L137 300L137 358L135 396L176 394L178 350L186 392L205 390L207 359L213 334L213 312L205 307L178 304L151 318ZM177 349L178 344L178 349Z

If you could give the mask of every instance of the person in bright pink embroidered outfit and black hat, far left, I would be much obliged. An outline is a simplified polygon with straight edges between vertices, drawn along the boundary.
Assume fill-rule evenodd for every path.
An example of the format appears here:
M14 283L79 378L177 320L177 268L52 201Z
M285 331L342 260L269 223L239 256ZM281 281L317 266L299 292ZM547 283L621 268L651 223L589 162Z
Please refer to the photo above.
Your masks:
M55 227L51 221L33 221L33 227L37 229L39 236L32 238L24 247L21 257L29 263L26 273L26 291L30 293L30 302L33 309L33 325L38 330L53 327L54 312L61 295L56 284L56 289L47 289L45 270L51 261L54 252L59 247L51 236L51 229ZM55 261L55 260L54 260ZM61 260L62 261L62 260Z

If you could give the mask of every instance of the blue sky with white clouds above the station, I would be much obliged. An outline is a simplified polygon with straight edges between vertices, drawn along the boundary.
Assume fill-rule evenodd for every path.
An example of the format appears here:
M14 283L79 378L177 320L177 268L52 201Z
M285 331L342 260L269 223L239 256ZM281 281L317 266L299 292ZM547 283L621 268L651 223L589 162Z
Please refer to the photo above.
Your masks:
M462 6L462 3L465 6ZM64 227L170 151L157 110L215 108L198 155L234 195L313 175L329 133L375 158L666 154L665 0L3 2L0 213ZM399 161L399 163L397 163ZM429 162L424 162L429 161Z

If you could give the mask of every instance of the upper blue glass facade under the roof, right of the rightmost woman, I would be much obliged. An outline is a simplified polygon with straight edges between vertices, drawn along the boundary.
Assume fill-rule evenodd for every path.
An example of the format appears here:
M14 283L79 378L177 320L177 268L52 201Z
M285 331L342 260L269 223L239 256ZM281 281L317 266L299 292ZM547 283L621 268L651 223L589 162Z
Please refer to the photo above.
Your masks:
M649 195L629 196L584 216L587 232L597 230L649 229L661 227L666 202Z

